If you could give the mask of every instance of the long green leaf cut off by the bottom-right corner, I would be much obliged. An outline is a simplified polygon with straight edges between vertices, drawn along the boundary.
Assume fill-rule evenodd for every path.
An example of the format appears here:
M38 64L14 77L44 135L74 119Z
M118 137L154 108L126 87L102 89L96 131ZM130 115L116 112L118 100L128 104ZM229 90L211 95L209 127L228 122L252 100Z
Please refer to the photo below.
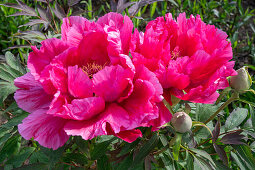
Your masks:
M247 145L232 145L241 158L246 162L246 165L253 169L255 167L255 158L252 155L251 149Z

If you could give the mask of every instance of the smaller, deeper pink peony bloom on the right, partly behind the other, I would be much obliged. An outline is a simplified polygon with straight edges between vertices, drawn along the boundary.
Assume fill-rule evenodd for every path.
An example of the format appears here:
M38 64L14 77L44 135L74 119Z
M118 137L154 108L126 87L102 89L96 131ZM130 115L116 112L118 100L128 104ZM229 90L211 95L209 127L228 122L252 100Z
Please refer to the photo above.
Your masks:
M145 33L135 30L132 57L135 65L144 64L153 71L164 97L170 95L196 103L213 103L217 89L228 86L233 70L231 43L227 34L206 25L200 16L185 13L173 20L171 14L148 23ZM171 102L171 101L170 101Z

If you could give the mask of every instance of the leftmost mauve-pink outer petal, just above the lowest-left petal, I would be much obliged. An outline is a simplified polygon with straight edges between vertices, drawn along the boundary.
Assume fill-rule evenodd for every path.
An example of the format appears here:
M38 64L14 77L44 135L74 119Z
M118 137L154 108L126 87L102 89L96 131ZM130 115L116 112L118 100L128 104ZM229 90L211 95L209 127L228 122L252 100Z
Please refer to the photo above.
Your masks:
M27 112L46 108L52 100L52 96L45 93L41 84L35 81L31 73L16 78L14 85L20 88L14 94L14 99L18 106Z

